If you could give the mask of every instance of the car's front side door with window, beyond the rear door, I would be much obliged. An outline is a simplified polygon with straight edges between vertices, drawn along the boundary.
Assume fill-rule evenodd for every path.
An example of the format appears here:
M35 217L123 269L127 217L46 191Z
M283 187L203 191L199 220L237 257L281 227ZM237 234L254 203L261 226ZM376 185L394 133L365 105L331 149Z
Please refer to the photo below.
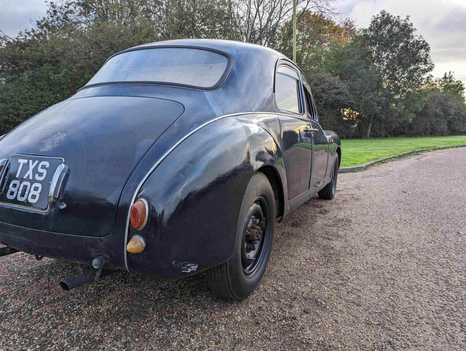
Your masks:
M308 118L312 130L312 177L310 187L319 187L323 184L327 172L329 158L329 139L322 130L315 109L311 89L304 76L302 76L304 97L306 100Z

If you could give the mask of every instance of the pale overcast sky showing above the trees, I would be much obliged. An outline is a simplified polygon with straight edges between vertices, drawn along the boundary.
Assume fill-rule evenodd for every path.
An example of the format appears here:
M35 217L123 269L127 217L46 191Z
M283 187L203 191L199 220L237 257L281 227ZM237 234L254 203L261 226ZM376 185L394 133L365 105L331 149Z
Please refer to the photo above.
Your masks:
M418 34L431 45L433 75L454 71L466 83L466 0L343 0L338 9L359 27L380 10L411 16ZM31 27L31 19L45 14L43 0L0 0L0 30L14 36Z

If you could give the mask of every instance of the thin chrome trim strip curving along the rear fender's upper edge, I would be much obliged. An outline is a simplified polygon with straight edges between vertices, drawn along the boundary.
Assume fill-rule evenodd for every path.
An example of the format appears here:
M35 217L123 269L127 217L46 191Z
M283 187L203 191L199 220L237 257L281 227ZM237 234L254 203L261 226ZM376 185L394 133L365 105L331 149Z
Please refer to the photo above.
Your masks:
M151 175L151 173L154 171L154 169L164 160L165 157L168 156L168 154L173 151L173 149L175 149L178 145L180 145L186 138L188 138L189 136L191 136L192 134L194 134L196 131L199 131L199 129L205 127L207 124L211 124L212 122L215 122L215 121L218 121L219 119L222 119L222 118L225 118L225 117L233 117L233 116L242 116L242 115L259 115L259 114L267 114L267 115L281 115L281 116L288 116L288 117L296 117L296 116L293 116L293 115L287 115L287 114L284 114L284 113L275 113L275 112L239 112L239 113L232 113L232 114L229 114L229 115L224 115L224 116L220 116L220 117L216 117L216 118L213 118L211 119L210 121L207 121L206 123L204 124L201 124L199 125L199 127L197 128L194 128L192 131L190 131L188 134L186 134L183 138L179 139L173 146L171 146L170 149L168 149L163 155L161 158L159 158L157 160L157 162L151 167L151 169L149 170L149 172L147 172L144 176L144 178L141 180L141 182L139 183L139 185L137 186L136 188L136 191L134 192L133 194L133 198L131 199L131 203L130 203L130 209L128 210L128 216L126 218L126 228L125 228L125 232L124 232L124 245L123 245L123 255L124 255L124 266L126 267L126 270L129 272L130 269L128 268L128 258L126 256L127 252L126 252L126 244L128 243L128 230L129 230L129 227L130 227L130 211L131 211L131 205L134 204L134 200L136 200L136 196L137 196L137 193L139 193L139 190L141 189L141 186L144 184L144 182L146 181L147 178L149 178L149 176Z

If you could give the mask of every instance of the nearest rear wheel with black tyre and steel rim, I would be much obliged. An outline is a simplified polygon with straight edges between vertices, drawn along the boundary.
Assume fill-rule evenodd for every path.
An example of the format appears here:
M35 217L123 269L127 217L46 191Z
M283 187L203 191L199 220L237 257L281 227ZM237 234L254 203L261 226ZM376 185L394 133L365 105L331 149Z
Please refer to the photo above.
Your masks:
M207 270L212 292L230 300L244 300L267 267L275 228L275 198L263 173L252 177L240 208L233 257Z

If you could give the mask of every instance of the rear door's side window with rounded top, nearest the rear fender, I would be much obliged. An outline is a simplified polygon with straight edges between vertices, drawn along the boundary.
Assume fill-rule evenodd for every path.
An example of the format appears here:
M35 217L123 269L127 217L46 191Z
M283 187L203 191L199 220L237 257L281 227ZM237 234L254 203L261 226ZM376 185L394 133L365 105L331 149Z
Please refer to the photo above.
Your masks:
M280 110L301 113L298 72L289 66L279 66L275 77L275 102Z

